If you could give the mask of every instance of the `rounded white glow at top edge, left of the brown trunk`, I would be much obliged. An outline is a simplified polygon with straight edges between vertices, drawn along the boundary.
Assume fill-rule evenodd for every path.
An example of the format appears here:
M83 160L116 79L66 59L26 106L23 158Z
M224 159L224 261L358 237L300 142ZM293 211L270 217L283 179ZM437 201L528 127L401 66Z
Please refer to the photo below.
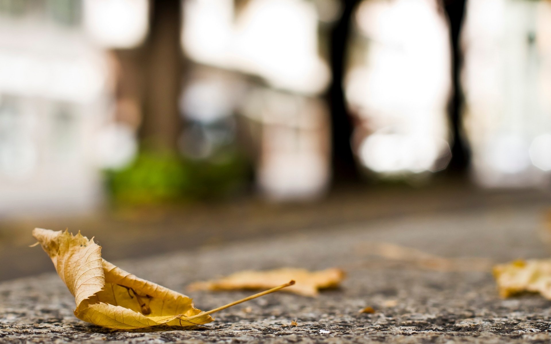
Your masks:
M84 28L103 47L136 47L148 26L148 0L84 0Z

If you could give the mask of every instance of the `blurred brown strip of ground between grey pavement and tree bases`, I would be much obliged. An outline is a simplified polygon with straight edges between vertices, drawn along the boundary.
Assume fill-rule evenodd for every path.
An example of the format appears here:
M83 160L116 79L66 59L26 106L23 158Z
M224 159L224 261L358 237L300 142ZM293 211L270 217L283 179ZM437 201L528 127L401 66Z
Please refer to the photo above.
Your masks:
M333 231L371 221L440 216L454 212L491 211L496 207L551 205L551 194L533 190L484 191L455 179L433 181L430 187L353 185L327 198L305 204L269 204L244 198L217 204L186 204L171 208L115 209L79 216L0 218L0 281L54 271L34 243L35 227L96 237L104 258L120 260L224 247L251 239ZM538 217L538 221L541 216ZM481 228L483 229L483 228Z

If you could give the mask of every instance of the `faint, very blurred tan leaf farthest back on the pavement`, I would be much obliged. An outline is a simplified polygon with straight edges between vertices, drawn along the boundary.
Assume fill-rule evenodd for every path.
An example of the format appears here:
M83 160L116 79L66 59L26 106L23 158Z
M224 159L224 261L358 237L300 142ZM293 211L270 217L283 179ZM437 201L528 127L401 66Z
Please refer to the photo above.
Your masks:
M399 261L403 265L413 265L435 271L489 271L493 265L487 258L458 257L445 258L423 252L422 250L404 247L385 242L365 242L356 247L360 254L377 255L382 258Z

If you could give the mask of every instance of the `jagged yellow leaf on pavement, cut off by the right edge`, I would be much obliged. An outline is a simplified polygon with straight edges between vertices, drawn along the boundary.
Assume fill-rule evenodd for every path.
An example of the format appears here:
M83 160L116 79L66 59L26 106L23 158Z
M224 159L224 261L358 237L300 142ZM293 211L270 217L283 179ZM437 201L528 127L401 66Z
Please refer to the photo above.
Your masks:
M522 292L540 293L551 300L551 260L515 260L494 266L494 277L501 297Z

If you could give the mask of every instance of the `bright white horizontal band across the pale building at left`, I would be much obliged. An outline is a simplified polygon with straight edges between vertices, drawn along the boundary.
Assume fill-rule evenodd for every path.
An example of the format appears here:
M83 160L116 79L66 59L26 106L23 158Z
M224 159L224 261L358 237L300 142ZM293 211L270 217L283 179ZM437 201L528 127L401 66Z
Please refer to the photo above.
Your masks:
M84 56L60 58L0 50L0 93L86 103L105 88L104 65Z

